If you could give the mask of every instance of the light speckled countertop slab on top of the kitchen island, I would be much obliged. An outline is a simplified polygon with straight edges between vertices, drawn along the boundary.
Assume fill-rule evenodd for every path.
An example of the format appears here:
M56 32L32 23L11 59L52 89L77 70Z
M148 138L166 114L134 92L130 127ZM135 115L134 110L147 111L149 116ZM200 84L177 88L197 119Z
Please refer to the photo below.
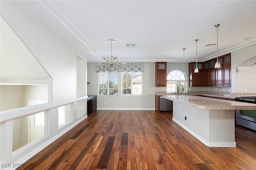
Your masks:
M204 110L256 110L256 104L193 95L163 95L163 98Z

